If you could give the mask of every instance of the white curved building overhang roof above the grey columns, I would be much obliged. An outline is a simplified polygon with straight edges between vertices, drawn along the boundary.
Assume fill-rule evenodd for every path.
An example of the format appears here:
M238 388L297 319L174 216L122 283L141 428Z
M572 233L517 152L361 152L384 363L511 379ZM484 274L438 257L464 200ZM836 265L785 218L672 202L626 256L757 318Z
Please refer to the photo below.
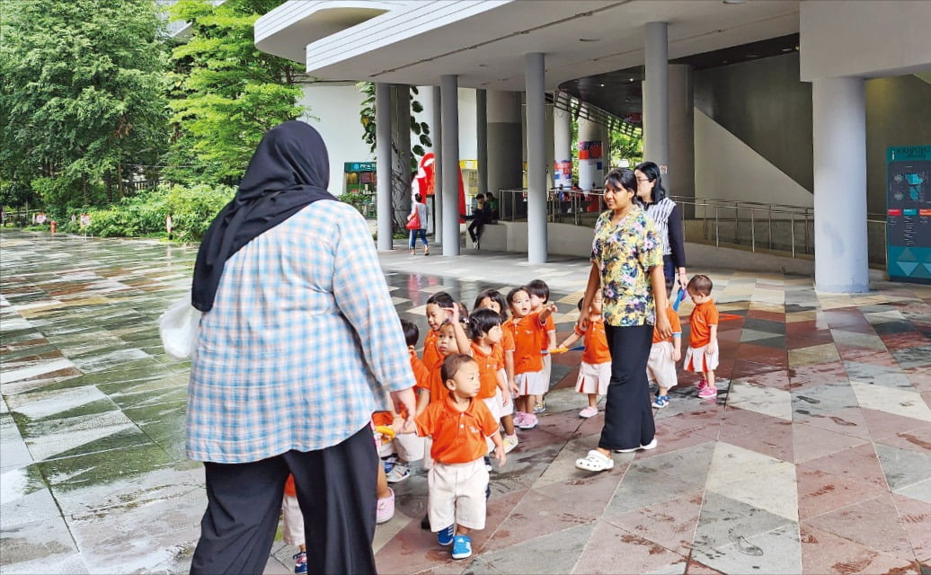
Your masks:
M363 15L351 10L362 7L369 17L352 23L350 14ZM349 22L343 28L327 15L341 9ZM651 21L668 22L672 60L798 33L799 2L291 0L258 20L255 34L257 47L301 61L321 79L421 86L457 74L462 87L522 90L524 55L543 52L552 90L642 64L643 27Z

